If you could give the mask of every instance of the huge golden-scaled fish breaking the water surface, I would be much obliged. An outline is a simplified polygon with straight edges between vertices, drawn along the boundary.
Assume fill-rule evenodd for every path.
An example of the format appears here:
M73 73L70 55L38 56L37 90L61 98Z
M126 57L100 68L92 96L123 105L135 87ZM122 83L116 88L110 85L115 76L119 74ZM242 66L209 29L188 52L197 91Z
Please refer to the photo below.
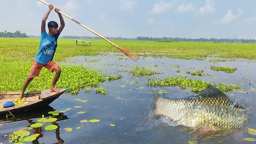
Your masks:
M193 129L211 126L218 130L239 129L249 117L243 106L212 85L185 99L167 99L156 94L152 115L167 116L178 125Z

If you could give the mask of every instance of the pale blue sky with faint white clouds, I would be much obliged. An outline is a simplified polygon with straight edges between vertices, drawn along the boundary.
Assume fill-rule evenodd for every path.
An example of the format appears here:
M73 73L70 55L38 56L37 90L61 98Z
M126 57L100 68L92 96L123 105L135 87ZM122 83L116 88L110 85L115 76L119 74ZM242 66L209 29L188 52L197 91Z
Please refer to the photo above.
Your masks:
M45 0L105 37L256 39L255 0ZM0 31L40 35L49 8L37 0L0 4ZM48 21L57 21L52 11ZM96 36L64 18L62 36Z

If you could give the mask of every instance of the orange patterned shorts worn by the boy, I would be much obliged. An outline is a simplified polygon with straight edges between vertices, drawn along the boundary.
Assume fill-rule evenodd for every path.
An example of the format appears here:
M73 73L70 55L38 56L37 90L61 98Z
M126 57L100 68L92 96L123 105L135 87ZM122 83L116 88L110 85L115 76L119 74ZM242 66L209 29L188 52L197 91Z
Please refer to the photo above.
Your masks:
M34 60L33 65L31 67L30 73L28 77L37 77L40 74L40 71L43 67L47 68L51 72L53 71L53 68L58 66L55 62L49 61L45 65L40 64Z

